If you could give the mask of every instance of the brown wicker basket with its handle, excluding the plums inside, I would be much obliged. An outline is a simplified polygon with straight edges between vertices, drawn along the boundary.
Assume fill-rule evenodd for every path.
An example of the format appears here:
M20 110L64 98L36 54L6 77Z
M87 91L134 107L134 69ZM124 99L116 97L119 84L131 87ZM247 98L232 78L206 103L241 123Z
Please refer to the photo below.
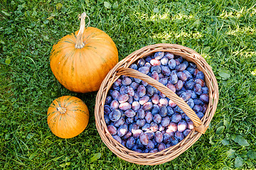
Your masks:
M200 120L196 113L173 91L168 89L163 84L152 79L146 74L142 74L134 69L129 69L129 65L137 61L139 58L143 58L152 55L154 52L171 52L174 55L179 55L186 59L188 62L193 62L196 64L198 69L200 69L203 74L205 74L206 85L209 89L209 103L208 108L204 117ZM116 81L120 75L127 75L129 77L134 77L146 81L151 86L156 87L159 91L166 95L174 101L189 118L193 121L194 129L191 130L189 135L185 137L178 145L174 145L161 152L156 153L139 153L127 149L121 145L117 140L114 140L110 132L107 130L107 125L104 119L104 105L107 92L111 88L114 81ZM131 55L124 58L124 60L117 63L117 65L110 70L105 77L104 81L100 86L100 90L97 93L96 103L95 103L95 121L97 131L100 133L102 141L107 145L107 147L117 155L117 157L124 159L127 162L132 162L135 164L143 165L156 165L169 162L172 159L178 157L180 154L191 147L203 133L206 132L210 120L212 120L218 103L218 83L213 74L213 70L207 64L206 60L201 57L197 52L191 50L188 47L183 47L181 45L174 44L156 44L142 47L141 49L133 52Z

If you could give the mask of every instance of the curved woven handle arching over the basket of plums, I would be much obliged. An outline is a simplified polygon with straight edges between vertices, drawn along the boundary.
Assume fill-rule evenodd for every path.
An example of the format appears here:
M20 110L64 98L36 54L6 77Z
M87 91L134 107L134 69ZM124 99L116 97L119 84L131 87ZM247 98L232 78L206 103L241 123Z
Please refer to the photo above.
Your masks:
M198 132L205 133L207 128L203 125L201 120L198 118L196 113L188 106L188 104L183 101L182 98L178 97L174 91L171 91L168 87L164 86L164 84L159 83L159 81L156 81L155 79L149 77L146 74L143 74L135 69L130 68L124 68L121 67L117 69L117 76L129 76L134 77L136 79L141 79L142 81L145 81L147 84L150 84L151 86L154 86L156 89L161 91L162 94L164 94L166 97L170 98L171 101L174 101L176 105L181 108L181 110L188 115L188 118L191 118L194 129Z

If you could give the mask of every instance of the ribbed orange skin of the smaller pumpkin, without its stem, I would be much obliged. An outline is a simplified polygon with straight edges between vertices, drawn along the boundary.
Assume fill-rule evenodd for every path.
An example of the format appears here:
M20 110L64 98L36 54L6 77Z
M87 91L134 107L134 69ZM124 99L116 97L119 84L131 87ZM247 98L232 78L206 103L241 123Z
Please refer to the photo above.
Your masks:
M60 113L58 108L65 108L65 113ZM80 98L62 96L50 104L47 122L54 135L61 138L75 137L85 130L89 122L89 111Z

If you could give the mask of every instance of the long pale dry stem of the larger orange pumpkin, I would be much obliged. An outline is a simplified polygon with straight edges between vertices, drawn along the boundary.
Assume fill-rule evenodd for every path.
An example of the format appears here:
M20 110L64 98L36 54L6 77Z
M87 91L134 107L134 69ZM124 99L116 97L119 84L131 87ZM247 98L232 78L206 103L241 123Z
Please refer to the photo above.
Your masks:
M90 18L89 16L86 15L86 13L82 13L79 18L80 18L80 29L79 29L79 32L78 32L78 35L77 35L77 42L75 43L75 48L82 48L82 47L85 47L85 43L82 42L82 33L84 32L85 30L85 18L88 18L89 19L89 22L87 23L87 27L89 26L90 24Z

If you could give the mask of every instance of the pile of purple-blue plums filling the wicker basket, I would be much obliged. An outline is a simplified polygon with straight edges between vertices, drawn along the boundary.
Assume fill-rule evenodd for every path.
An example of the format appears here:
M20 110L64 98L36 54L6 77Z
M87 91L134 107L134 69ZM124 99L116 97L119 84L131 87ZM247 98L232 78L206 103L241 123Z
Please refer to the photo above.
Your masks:
M203 72L170 52L155 52L130 65L167 86L203 118L209 102ZM121 76L108 91L104 117L115 140L135 152L152 153L178 144L193 122L176 103L141 79Z

